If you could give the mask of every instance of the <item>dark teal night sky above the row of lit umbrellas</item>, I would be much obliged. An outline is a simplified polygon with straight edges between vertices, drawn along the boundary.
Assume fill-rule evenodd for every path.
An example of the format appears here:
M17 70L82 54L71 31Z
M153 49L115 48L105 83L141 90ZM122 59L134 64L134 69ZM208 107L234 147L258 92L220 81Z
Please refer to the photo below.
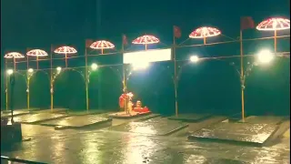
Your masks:
M289 17L289 0L3 0L1 48L21 50L50 44L83 44L85 38L108 39L120 44L129 38L155 34L171 44L172 26L183 37L198 26L216 26L226 36L239 35L239 18L256 23L279 15Z

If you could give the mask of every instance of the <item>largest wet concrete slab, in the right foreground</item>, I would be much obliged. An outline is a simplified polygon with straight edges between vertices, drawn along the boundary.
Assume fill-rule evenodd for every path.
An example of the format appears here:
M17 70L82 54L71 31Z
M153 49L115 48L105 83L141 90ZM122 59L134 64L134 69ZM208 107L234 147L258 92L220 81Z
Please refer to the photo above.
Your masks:
M278 126L275 124L247 124L221 122L197 130L188 139L227 141L262 146Z

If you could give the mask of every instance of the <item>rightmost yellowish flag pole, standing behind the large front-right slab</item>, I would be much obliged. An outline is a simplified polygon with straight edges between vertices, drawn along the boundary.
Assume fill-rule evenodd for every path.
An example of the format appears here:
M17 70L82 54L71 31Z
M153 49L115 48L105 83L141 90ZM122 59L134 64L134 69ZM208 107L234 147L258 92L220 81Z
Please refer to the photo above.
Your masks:
M245 77L244 77L244 55L243 55L243 30L240 30L240 80L242 98L242 120L245 121Z

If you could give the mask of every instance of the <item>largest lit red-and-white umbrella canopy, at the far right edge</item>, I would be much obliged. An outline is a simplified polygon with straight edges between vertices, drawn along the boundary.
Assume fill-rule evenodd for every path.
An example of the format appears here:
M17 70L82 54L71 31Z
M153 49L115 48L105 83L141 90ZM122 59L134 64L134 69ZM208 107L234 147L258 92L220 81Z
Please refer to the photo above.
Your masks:
M275 31L290 28L290 20L281 17L268 18L256 26L260 31Z

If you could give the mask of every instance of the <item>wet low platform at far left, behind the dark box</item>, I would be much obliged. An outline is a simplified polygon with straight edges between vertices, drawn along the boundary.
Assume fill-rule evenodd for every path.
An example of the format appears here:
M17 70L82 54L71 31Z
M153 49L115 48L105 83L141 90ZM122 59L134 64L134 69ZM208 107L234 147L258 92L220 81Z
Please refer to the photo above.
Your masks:
M37 124L42 121L52 120L56 118L68 117L64 114L54 114L54 113L35 113L29 115L17 116L14 118L15 122L26 123L26 124Z

